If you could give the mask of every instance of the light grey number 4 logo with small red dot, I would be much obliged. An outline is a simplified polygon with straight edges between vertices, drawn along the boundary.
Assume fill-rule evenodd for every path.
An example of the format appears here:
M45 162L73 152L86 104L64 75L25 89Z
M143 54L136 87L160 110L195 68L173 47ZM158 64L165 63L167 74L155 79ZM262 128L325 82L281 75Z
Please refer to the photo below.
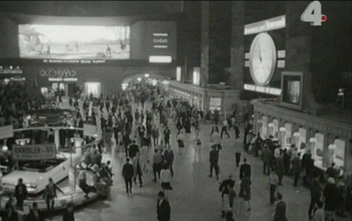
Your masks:
M301 15L302 22L310 22L310 25L320 26L325 22L326 15L321 14L321 4L319 1L312 1Z

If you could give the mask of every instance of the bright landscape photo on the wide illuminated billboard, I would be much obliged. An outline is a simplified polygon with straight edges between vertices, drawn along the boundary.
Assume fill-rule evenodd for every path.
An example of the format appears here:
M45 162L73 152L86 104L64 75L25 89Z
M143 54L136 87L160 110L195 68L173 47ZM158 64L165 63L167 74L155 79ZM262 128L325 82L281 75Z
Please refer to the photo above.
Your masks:
M130 27L20 24L19 47L30 59L130 59Z

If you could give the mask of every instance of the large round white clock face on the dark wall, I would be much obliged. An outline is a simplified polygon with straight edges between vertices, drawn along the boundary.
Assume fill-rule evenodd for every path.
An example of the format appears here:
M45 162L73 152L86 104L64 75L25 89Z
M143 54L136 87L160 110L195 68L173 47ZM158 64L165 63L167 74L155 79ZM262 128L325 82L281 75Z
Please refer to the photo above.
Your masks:
M276 47L267 33L258 34L250 48L249 69L256 85L269 84L276 67Z

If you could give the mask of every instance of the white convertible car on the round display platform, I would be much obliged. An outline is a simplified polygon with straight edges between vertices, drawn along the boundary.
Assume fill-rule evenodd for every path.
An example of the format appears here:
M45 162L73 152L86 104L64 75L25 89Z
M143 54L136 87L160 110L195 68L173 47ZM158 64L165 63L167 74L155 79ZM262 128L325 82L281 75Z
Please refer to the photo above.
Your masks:
M72 154L72 165L79 161L80 158L80 155ZM14 192L18 179L22 178L23 183L27 186L28 193L38 194L44 191L50 177L54 180L54 183L58 183L68 177L70 165L69 153L57 153L56 159L29 161L20 167L19 170L2 177L2 190L4 192Z

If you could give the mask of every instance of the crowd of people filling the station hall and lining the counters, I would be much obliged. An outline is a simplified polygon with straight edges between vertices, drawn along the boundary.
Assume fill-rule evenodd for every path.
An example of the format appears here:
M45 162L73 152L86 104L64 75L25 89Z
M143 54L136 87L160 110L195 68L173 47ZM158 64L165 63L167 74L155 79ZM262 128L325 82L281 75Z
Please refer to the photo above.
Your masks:
M19 111L21 109L16 105L11 110L4 110L3 107L7 107L8 103L3 100L1 102L1 116L4 116L4 113L6 116L21 113ZM107 193L107 188L112 185L113 173L110 161L106 164L102 163L102 155L104 152L115 151L125 156L122 177L125 180L127 194L132 194L133 184L136 185L137 181L139 186L143 187L143 174L149 173L148 164L151 163L153 181L159 182L160 185L160 192L157 194L157 217L159 221L170 221L171 206L168 198L169 191L173 190L172 181L175 176L173 147L177 145L178 155L182 157L186 141L194 137L194 158L195 161L200 160L202 143L207 142L201 140L199 135L204 133L199 127L202 120L206 119L203 112L188 101L171 98L159 87L145 82L130 84L127 90L105 97L102 95L93 97L90 94L83 100L82 110L80 110L78 98L75 100L70 98L69 105L77 110L78 120L74 123L75 125L83 127L84 122L91 123L97 125L103 134L102 142L85 150L79 162L82 168L79 175L79 187L86 194L85 197L88 199L90 192L98 192L101 195ZM80 114L81 112L83 115ZM238 114L234 110L219 124L219 112L215 111L214 125L209 137L211 146L209 177L213 177L213 171L215 171L216 178L220 179L222 140L232 137L229 131L231 129L235 131L235 140L242 136L237 117ZM175 127L176 134L172 133L171 127ZM191 136L193 133L194 135ZM224 135L227 135L227 138ZM176 138L176 144L171 143L172 136ZM263 161L263 174L268 176L268 201L271 204L276 202L274 221L287 221L286 203L279 190L279 187L283 186L285 176L294 177L294 187L299 187L302 182L310 188L309 219L314 221L335 220L335 213L345 217L346 205L351 203L351 187L348 186L351 184L351 180L348 180L351 176L342 176L334 167L335 165L331 165L326 175L322 177L321 173L314 170L314 161L309 151L301 156L295 145L291 145L287 150L273 136L263 139L260 133L253 133L253 119L250 113L244 116L243 146L237 143L234 148L236 153L234 162L237 167L240 167L238 179L240 191L237 197L234 190L235 179L232 174L221 182L219 188L222 198L221 217L228 221L234 220L236 200L239 202L237 206L242 205L247 211L251 210L252 168L246 157L241 158L242 151L253 154L255 157L261 157ZM151 152L154 153L152 157ZM87 170L92 173L93 184L87 182ZM327 179L326 185L321 182L323 179ZM16 187L16 192L25 196L25 185L21 187L21 183L19 180L19 190ZM51 183L49 180L47 189L45 189L45 193L50 193L45 198L48 209L53 208L56 190L60 191L56 186L51 186ZM15 194L20 207L23 198L21 194ZM35 208L33 205L34 216L37 217ZM12 208L8 211L7 215L11 216ZM72 210L67 211L72 212Z

